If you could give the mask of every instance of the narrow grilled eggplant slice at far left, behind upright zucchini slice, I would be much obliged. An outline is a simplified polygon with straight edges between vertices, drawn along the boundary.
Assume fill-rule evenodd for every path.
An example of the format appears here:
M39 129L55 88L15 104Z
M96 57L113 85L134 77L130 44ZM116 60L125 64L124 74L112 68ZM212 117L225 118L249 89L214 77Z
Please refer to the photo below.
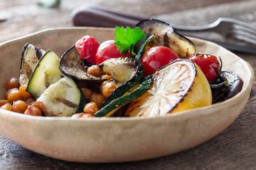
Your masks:
M45 51L32 44L27 43L22 50L21 65L20 65L20 85L28 83L37 62L43 56Z

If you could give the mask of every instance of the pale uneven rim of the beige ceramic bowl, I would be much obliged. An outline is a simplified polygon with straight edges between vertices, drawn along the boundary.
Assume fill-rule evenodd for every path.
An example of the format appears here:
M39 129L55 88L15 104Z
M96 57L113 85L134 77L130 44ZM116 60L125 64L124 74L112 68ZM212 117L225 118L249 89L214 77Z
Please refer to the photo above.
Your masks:
M54 27L54 28L47 28L47 29L43 29L43 30L39 30L33 33L29 33L28 35L25 36L21 36L21 37L17 37L14 39L10 39L7 41L4 41L2 43L0 43L0 48L2 46L6 46L9 43L12 43L13 41L20 41L22 39L26 39L29 37L33 37L36 35L43 35L44 33L47 32L51 32L51 31L58 31L58 30L79 30L79 29L92 29L92 30L109 30L109 31L113 31L114 28L100 28L100 27ZM199 110L202 109L208 109L208 108L212 108L212 107L223 107L225 105L231 105L233 103L233 101L235 101L237 98L242 98L241 96L245 96L246 91L251 91L252 86L253 86L253 82L255 81L255 75L254 75L254 70L252 68L252 66L250 65L250 63L246 62L245 60L243 60L242 58L240 58L239 56L237 56L236 54L230 52L228 49L213 43L211 41L207 41L207 40L203 40L203 39L199 39L199 38L194 38L194 37L188 37L191 38L193 40L197 40L197 41L201 41L202 43L210 43L214 46L218 46L218 48L222 48L227 50L229 53L235 55L236 57L238 57L242 62L244 62L244 64L246 64L247 66L247 70L249 71L249 81L243 85L243 89L234 97L227 99L225 101L222 101L220 103L216 103L216 104L212 104L209 106L204 106L204 107L198 107L198 108L193 108L193 109L189 109L187 111L181 111L181 112L177 112L175 114L167 114L165 116L156 116L156 117L93 117L93 118L71 118L71 117L46 117L46 116L30 116L30 115L24 115L24 114L17 114L16 112L12 112L12 111L6 111L4 109L1 109L0 114L8 114L11 116L15 116L15 117L19 117L21 119L24 120L41 120L41 121L57 121L57 120L61 120L61 121L140 121L140 120L151 120L151 119L161 119L164 117L183 117L183 118L193 118L197 116L197 113ZM192 112L193 114L188 114L189 112ZM205 114L210 114L208 112L205 112Z

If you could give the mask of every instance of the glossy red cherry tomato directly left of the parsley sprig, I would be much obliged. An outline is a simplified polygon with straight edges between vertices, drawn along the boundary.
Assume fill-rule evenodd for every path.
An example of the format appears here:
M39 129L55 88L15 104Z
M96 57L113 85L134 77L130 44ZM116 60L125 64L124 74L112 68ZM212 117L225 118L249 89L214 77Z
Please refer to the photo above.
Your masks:
M105 60L108 60L109 58L130 57L129 52L126 54L121 54L121 52L117 50L114 43L114 40L107 40L100 44L95 56L95 62L97 65Z

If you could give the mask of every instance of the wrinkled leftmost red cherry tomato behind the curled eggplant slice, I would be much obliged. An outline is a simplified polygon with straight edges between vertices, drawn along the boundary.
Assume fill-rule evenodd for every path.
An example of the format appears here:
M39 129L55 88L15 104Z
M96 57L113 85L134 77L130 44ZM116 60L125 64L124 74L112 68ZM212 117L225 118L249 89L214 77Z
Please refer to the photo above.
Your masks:
M81 39L77 40L75 46L83 59L89 56L86 59L86 62L92 64L95 63L95 54L99 47L99 43L96 38L86 35Z

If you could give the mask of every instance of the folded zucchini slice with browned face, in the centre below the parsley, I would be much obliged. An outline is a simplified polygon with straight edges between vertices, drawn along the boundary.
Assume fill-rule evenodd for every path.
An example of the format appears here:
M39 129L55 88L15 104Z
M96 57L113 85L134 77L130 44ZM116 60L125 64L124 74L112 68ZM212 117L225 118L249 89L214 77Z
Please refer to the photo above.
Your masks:
M143 65L129 57L110 58L99 65L102 72L110 74L122 84L118 86L103 102L101 107L108 105L135 86L143 77Z

